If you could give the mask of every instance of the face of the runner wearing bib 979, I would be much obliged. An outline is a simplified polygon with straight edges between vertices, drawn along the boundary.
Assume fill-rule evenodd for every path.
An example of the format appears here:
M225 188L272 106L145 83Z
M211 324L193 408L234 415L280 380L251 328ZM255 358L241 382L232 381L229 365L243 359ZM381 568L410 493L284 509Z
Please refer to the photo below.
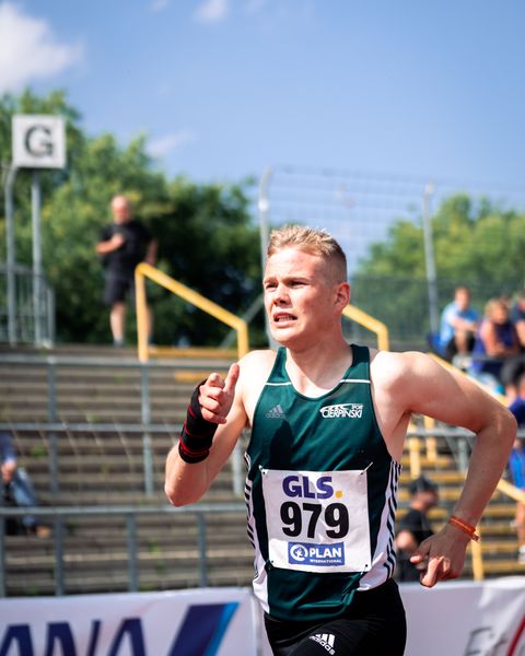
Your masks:
M287 347L308 347L340 321L340 285L328 282L317 255L284 248L268 258L262 281L273 338ZM339 324L340 325L340 324Z

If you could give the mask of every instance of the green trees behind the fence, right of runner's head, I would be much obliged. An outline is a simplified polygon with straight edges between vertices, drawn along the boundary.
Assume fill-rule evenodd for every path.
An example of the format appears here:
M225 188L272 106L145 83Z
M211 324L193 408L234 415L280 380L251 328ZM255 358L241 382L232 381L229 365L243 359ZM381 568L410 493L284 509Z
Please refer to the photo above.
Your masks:
M525 215L487 199L445 199L432 218L440 306L454 286L467 284L479 311L491 296L523 286ZM394 339L423 339L429 331L423 231L399 220L373 244L353 277L353 301L386 323Z

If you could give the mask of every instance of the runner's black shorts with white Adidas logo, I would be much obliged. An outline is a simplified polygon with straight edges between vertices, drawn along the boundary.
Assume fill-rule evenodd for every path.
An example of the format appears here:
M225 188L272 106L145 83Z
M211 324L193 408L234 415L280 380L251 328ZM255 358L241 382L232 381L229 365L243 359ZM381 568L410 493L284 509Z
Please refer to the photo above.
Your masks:
M341 617L289 622L265 614L265 626L275 656L402 656L407 641L405 608L392 578L355 593Z

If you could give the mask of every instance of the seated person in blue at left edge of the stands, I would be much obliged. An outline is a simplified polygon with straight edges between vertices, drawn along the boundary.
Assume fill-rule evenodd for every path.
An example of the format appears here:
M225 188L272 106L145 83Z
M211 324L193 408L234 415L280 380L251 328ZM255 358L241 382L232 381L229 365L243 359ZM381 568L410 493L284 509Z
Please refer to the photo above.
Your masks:
M0 433L0 467L2 471L2 495L0 503L20 507L36 506L36 496L27 472L19 467L16 450L9 433ZM15 530L15 523L8 523L8 532ZM49 527L38 524L33 515L22 517L22 526L27 535L47 537Z

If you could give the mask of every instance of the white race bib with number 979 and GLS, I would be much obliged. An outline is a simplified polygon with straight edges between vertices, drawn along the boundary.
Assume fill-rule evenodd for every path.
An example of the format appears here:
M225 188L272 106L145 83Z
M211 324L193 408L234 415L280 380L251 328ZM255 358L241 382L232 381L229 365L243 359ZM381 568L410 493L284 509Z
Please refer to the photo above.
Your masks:
M365 471L262 469L269 560L301 572L371 567Z

